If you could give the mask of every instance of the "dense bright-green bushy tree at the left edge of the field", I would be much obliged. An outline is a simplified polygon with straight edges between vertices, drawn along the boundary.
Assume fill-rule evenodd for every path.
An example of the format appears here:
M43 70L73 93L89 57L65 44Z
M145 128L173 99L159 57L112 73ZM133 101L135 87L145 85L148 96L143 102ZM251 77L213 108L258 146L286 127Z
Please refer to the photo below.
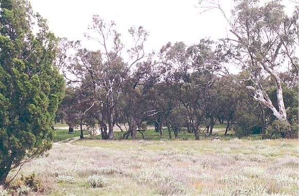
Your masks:
M28 1L0 1L0 185L11 169L51 147L65 87L57 44Z

